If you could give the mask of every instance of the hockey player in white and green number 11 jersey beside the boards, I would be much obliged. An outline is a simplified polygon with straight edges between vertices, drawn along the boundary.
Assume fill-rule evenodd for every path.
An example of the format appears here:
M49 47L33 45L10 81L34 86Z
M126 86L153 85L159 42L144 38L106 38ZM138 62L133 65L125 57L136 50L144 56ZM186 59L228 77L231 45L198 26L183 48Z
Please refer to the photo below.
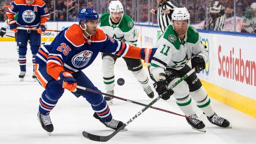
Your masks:
M177 105L186 116L197 118L191 103L192 98L212 124L231 128L228 120L215 113L210 98L195 73L173 90L167 89L167 86L170 87L191 70L187 65L190 59L192 68L195 68L197 73L205 69L205 63L208 61L208 51L201 43L198 31L189 26L189 23L190 14L187 9L176 8L172 14L172 25L165 29L153 46L157 48L149 67L151 78L155 81L153 85L164 100L168 100L173 94ZM202 121L188 118L186 120L193 129L206 132Z

